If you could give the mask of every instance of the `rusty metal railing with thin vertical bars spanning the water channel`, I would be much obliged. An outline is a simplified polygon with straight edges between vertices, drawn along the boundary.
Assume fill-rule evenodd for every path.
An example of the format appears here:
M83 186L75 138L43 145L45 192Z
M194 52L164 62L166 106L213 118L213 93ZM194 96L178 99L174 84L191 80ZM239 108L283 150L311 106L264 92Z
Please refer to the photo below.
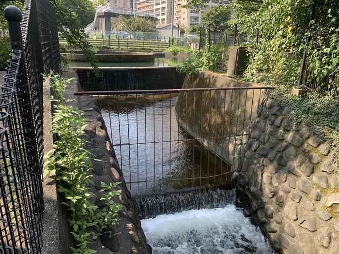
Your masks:
M87 91L133 194L230 182L271 87Z

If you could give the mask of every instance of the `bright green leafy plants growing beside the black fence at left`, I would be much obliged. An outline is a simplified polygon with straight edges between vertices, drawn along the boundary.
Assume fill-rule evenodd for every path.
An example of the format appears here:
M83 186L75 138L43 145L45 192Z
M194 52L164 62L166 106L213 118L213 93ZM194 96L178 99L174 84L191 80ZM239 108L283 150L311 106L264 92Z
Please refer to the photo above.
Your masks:
M59 102L55 106L51 129L57 140L53 145L54 149L45 157L45 172L55 175L58 192L64 196L65 202L62 204L67 206L70 233L76 241L76 246L71 247L72 252L93 254L95 251L88 248L88 243L101 234L111 234L111 226L119 221L116 215L121 208L112 199L120 193L116 188L120 182L109 185L101 183L100 198L105 200L106 208L100 210L92 203L95 198L90 189L93 186L90 174L92 163L84 149L86 139L83 138L83 112L72 106L62 105L65 102L64 91L70 79L52 73L45 78L49 79L55 90L55 100Z

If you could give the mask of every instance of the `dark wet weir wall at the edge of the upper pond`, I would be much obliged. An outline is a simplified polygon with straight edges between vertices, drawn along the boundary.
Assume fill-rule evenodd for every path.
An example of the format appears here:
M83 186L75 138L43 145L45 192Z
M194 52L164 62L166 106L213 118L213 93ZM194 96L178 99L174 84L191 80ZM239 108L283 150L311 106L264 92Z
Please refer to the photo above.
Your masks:
M74 69L84 91L174 89L185 80L176 67L100 67L100 77L90 67Z

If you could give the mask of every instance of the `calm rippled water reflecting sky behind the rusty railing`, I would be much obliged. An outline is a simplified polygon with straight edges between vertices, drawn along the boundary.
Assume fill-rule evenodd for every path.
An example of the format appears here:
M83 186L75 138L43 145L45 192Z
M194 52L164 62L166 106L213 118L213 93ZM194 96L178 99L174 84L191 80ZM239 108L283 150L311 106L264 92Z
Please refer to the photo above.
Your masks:
M100 99L108 135L132 194L167 193L230 180L225 176L228 165L178 125L177 100L177 94Z

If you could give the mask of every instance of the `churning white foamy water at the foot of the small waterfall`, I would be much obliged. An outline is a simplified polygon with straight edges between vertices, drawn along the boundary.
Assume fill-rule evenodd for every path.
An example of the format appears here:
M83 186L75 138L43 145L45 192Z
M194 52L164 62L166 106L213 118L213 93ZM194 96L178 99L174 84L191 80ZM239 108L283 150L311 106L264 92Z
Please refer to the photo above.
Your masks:
M154 254L272 254L259 228L234 205L141 220Z

